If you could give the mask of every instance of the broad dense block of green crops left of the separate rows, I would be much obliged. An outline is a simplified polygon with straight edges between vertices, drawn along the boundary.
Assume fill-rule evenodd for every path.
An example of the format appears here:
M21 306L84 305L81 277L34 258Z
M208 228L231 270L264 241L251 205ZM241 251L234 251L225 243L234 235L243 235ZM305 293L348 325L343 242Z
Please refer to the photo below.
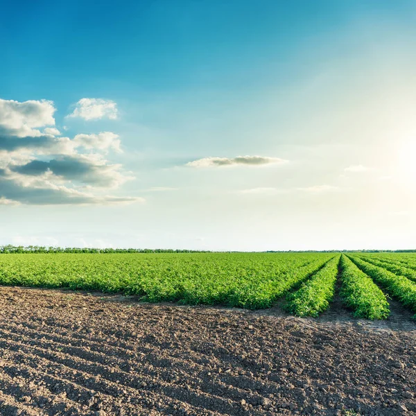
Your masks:
M13 254L0 256L0 284L259 309L271 306L331 257L324 253Z

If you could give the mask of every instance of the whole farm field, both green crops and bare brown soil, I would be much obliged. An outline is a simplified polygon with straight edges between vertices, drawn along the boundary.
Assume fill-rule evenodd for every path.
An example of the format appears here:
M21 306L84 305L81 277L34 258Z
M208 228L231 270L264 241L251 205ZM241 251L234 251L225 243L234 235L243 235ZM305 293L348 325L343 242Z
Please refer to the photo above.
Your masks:
M413 259L0 255L0 415L416 414Z

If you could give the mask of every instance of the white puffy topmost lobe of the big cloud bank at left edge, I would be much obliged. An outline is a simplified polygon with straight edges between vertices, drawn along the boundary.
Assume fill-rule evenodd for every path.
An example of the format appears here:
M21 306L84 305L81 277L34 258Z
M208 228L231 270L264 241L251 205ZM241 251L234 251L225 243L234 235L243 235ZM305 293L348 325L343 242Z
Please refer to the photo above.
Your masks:
M0 132L15 137L38 137L42 133L37 128L55 125L53 101L2 100L0 98Z

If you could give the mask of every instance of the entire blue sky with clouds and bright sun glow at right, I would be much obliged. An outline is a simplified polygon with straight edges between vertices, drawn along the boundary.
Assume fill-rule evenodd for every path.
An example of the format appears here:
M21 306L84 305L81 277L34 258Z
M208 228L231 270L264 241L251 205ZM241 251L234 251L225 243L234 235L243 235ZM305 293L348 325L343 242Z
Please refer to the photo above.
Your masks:
M416 3L3 5L0 245L416 248Z

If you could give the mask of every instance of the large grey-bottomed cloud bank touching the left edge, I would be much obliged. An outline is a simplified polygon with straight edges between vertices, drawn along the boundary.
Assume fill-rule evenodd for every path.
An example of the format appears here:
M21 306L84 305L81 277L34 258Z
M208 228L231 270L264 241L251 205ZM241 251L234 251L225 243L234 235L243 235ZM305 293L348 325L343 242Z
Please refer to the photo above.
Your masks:
M56 137L60 131L46 127L55 125L55 110L52 101L0 100L0 205L143 202L104 193L133 179L105 159L110 151L121 153L119 136Z

